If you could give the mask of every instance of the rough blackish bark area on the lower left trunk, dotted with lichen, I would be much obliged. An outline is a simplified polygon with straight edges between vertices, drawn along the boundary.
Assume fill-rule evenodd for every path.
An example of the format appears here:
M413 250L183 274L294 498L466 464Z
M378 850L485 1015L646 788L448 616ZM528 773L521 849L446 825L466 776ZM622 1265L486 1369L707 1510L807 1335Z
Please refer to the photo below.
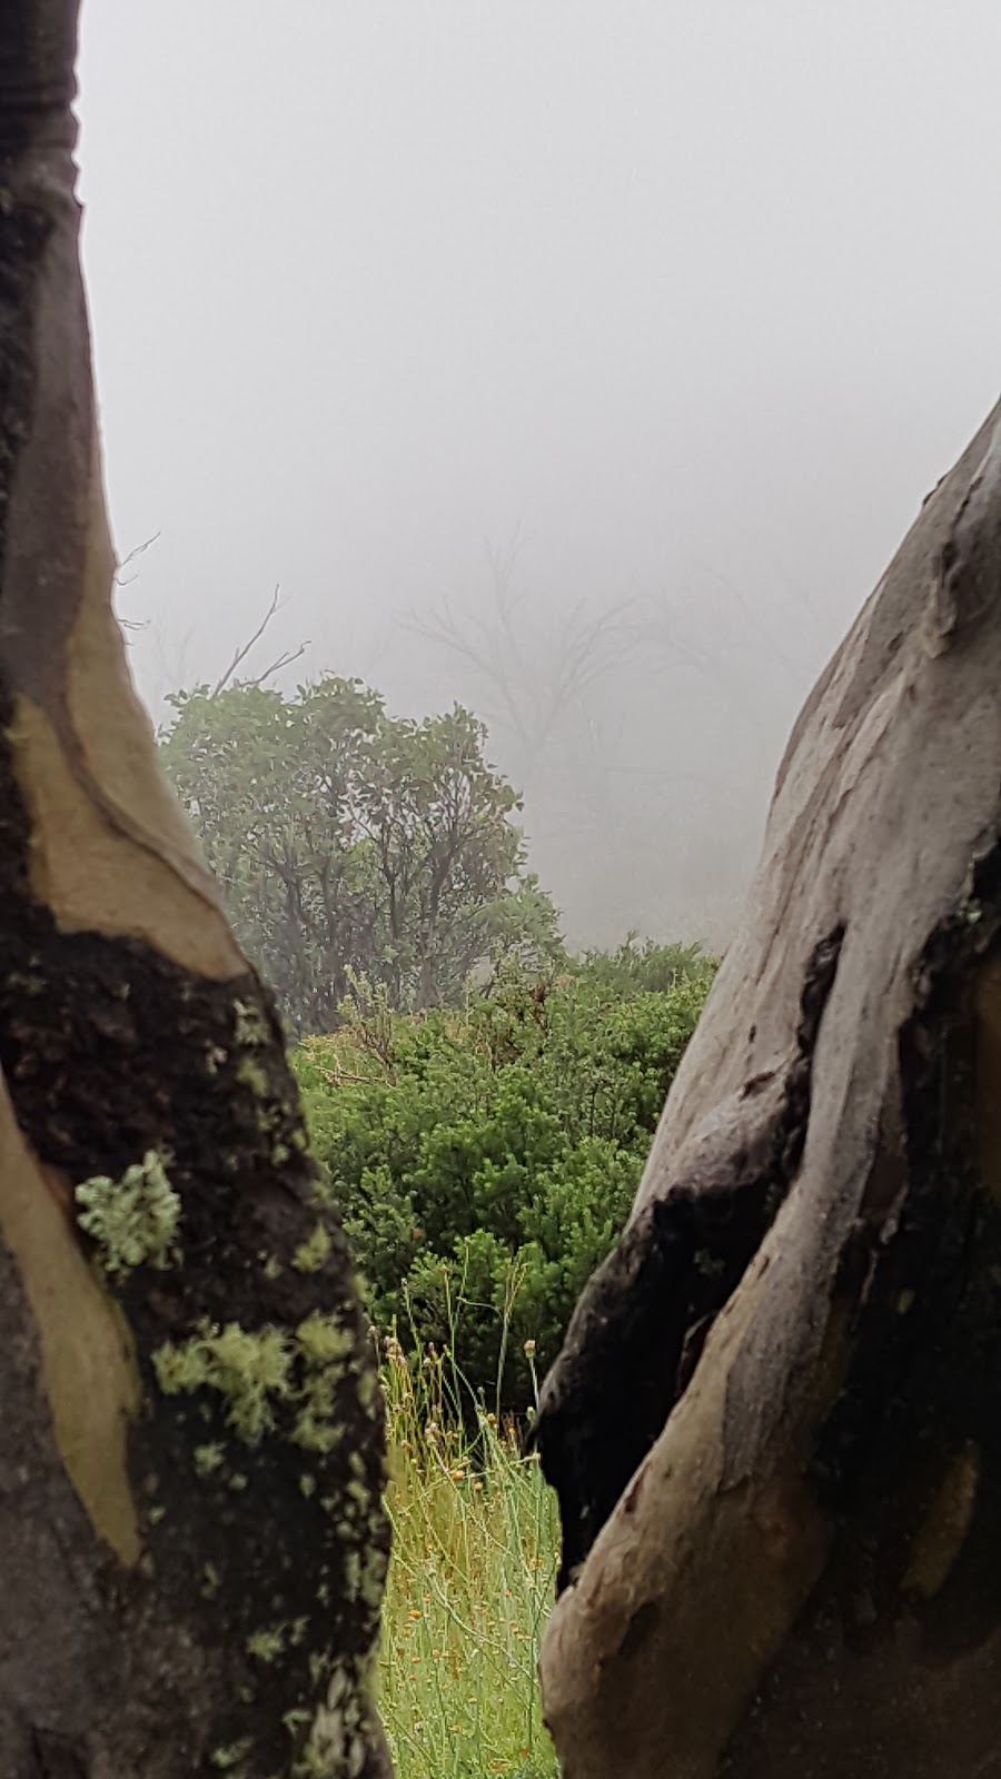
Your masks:
M109 1277L144 1386L130 1473L146 1555L119 1608L141 1619L153 1596L223 1653L212 1745L249 1733L240 1774L285 1772L333 1663L369 1654L388 1544L376 1361L347 1247L317 1199L271 994L249 971L210 982L135 939L59 932L30 895L27 847L0 745L0 1064L18 1123L71 1188L155 1153L180 1199L176 1263ZM317 1226L326 1254L303 1272ZM317 1309L340 1348L322 1377L296 1334ZM258 1443L233 1430L219 1389L159 1384L157 1352L224 1329L276 1332L296 1356L296 1397L269 1400ZM299 1437L310 1379L330 1450Z

